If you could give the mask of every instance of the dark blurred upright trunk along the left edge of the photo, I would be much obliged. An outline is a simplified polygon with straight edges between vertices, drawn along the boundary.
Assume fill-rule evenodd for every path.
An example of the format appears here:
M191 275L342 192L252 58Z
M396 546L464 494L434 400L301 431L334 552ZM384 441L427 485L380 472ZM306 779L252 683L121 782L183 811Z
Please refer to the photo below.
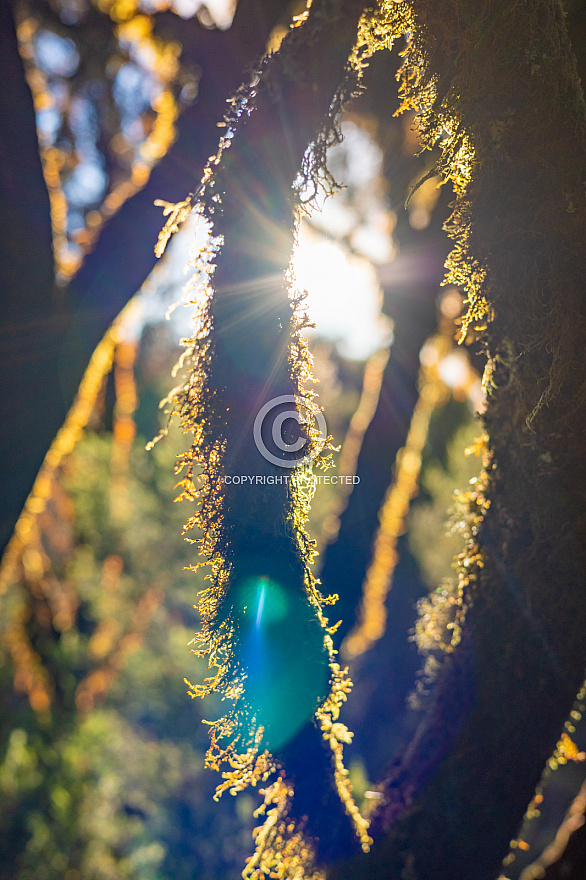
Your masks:
M9 0L0 2L0 41L1 554L66 406L63 292L53 287L49 196Z

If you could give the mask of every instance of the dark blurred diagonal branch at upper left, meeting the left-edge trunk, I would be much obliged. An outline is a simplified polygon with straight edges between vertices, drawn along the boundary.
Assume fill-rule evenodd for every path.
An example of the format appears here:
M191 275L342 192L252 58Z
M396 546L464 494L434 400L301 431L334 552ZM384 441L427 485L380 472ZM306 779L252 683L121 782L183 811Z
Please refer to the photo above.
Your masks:
M227 31L207 30L195 20L181 22L189 47L187 60L203 73L197 101L177 123L177 140L153 169L140 192L124 203L101 232L98 243L67 290L73 324L66 343L68 391L105 329L141 287L155 264L154 247L163 225L157 199L179 202L197 188L203 169L218 145L217 127L226 101L262 57L269 34L282 12L273 0L240 0ZM169 29L166 17L157 27ZM176 16L172 17L176 20ZM173 22L175 24L175 21Z

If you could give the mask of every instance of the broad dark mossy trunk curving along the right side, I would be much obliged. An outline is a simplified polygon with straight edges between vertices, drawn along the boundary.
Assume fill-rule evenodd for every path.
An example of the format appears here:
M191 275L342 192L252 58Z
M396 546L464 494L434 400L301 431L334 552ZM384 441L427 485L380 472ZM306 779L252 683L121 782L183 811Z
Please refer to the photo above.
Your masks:
M436 107L458 108L475 149L467 247L493 309L490 506L477 499L462 562L462 638L386 785L378 843L331 876L494 880L586 666L586 120L558 4L414 14Z

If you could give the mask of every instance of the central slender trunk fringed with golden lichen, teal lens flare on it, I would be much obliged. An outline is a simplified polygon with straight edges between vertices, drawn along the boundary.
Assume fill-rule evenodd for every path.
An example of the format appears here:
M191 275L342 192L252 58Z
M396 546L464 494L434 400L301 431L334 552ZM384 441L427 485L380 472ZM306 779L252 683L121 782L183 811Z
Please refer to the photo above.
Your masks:
M310 568L312 468L327 466L328 438L313 421L308 319L288 269L302 202L328 185L326 149L356 89L359 65L347 59L362 4L316 7L232 102L198 192L179 205L162 203L169 219L157 251L197 203L215 237L197 261L197 332L184 341L185 378L167 398L171 416L193 435L177 463L180 498L197 505L186 532L199 531L189 540L211 570L194 652L213 674L189 688L193 697L216 693L230 704L210 723L206 764L222 773L217 796L270 783L270 809L244 873L251 878L313 876L311 832L303 817L288 818L294 784L281 757L312 719L357 838L364 849L370 843L342 761L351 734L338 719L351 684L323 612L332 598L320 594ZM337 38L329 54L316 51L325 32ZM284 446L263 422L255 436L265 411L279 420ZM287 451L295 443L303 447L298 459Z

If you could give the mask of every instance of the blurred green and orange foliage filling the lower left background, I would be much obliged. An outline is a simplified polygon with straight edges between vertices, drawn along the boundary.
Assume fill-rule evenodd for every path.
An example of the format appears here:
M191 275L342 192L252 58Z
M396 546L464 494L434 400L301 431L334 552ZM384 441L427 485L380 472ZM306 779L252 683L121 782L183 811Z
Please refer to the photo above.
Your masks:
M148 454L138 439L126 485L113 487L112 435L89 434L64 478L74 510L42 535L73 597L71 625L60 631L55 614L43 624L30 579L4 605L2 644L24 618L52 701L35 713L15 693L4 647L2 880L217 880L241 869L252 804L213 804L207 731L183 684L205 674L187 649L203 579L182 570L176 445Z

